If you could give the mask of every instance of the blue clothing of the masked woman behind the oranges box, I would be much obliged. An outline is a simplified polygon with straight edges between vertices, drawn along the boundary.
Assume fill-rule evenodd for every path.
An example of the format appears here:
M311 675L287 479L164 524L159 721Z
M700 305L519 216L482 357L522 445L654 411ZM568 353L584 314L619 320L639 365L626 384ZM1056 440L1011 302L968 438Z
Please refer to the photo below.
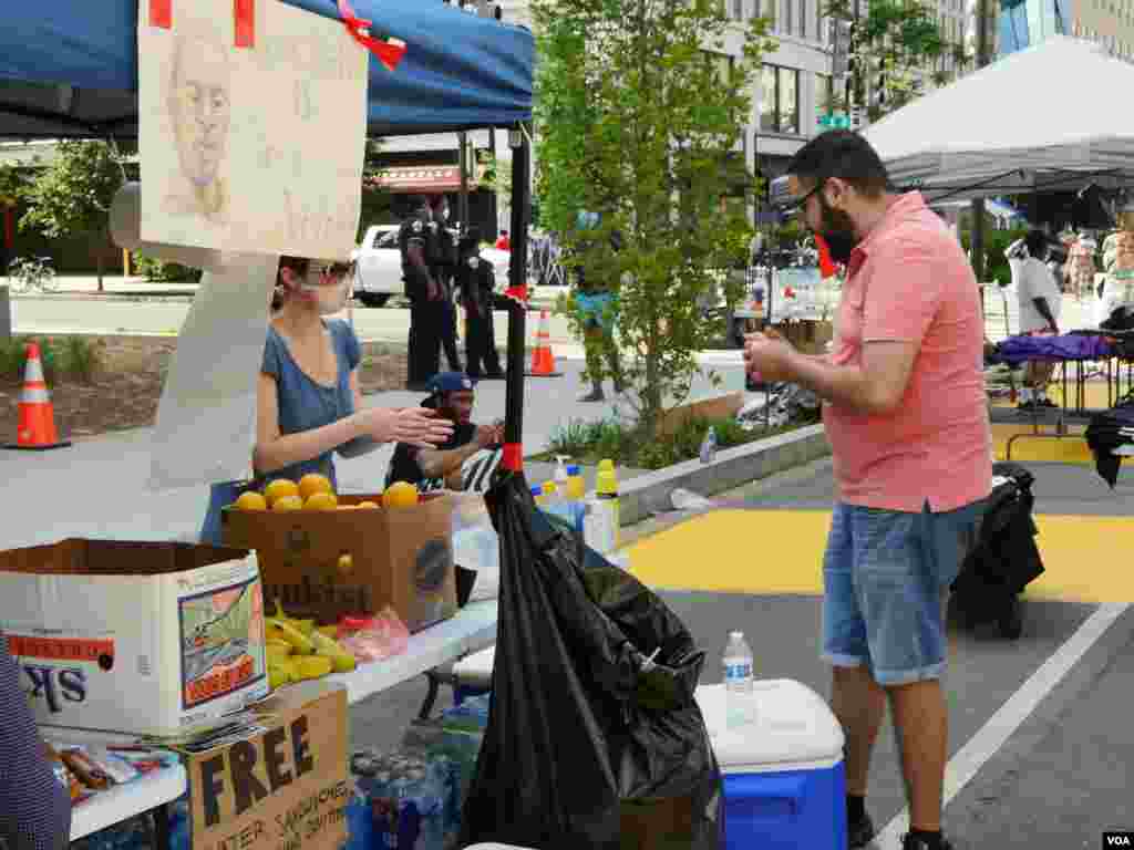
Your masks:
M268 339L264 343L264 363L261 371L276 379L277 397L279 399L280 434L298 434L304 431L320 428L354 413L354 392L350 390L350 373L362 360L362 347L354 330L342 320L325 322L331 334L335 358L338 362L338 377L333 385L316 383L291 357L287 342L268 326ZM299 481L307 473L321 473L331 479L337 488L333 452L328 451L318 458L276 469L268 475L256 476L253 482L226 482L214 484L210 492L209 511L201 529L201 542L221 544L220 509L231 504L240 492L248 487L260 488L277 478Z

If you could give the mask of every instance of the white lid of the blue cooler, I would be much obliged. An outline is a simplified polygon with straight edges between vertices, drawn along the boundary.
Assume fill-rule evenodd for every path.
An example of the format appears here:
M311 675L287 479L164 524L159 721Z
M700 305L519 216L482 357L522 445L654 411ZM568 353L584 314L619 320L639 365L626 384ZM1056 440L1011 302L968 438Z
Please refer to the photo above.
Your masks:
M792 679L756 680L754 687L756 721L738 730L725 723L723 685L696 690L722 771L841 758L843 728L815 691Z

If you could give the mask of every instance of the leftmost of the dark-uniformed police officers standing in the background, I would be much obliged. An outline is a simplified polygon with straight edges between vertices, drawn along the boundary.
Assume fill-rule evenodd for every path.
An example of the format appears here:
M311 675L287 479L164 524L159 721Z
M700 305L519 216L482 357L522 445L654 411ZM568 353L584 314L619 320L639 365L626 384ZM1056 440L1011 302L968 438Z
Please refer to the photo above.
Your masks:
M409 355L407 390L422 390L441 367L441 338L432 321L431 305L441 297L441 290L426 261L433 211L424 197L411 199L409 216L398 230L401 250L401 279L409 299Z

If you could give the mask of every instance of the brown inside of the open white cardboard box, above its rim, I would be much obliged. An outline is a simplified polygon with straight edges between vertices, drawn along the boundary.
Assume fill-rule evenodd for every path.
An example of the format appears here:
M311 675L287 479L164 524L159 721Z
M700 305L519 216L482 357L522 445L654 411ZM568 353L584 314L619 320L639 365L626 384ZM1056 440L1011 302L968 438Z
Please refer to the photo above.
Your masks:
M161 576L244 560L246 549L155 541L68 538L0 552L0 572L31 575Z

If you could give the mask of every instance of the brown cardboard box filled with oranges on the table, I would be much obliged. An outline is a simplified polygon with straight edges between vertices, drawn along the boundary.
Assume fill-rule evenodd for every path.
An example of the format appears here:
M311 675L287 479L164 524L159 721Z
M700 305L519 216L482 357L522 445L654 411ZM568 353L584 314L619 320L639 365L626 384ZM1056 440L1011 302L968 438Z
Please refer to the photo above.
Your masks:
M452 499L412 484L344 495L307 475L244 493L221 527L227 545L256 551L264 597L291 617L333 623L390 605L413 632L457 611Z

